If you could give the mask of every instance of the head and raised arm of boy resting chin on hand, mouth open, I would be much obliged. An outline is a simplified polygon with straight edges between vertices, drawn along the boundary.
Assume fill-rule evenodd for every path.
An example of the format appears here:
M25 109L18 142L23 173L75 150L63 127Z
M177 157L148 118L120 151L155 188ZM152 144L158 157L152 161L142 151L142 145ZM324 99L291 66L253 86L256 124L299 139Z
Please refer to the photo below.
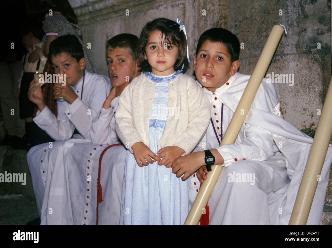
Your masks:
M106 61L111 78L112 89L106 98L98 118L91 126L90 139L96 144L118 143L115 132L115 112L119 96L124 88L139 76L141 68L137 67L135 45L138 37L133 34L118 34L106 43Z

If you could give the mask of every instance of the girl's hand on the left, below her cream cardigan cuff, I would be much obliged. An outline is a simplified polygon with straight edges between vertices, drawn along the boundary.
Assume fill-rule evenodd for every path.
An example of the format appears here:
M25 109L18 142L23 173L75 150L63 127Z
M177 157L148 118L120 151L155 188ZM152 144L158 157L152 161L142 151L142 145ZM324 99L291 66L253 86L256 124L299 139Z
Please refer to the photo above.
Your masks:
M154 154L143 142L133 144L131 149L134 153L136 163L140 167L143 167L143 165L147 166L148 163L153 164L153 162L160 160L160 158L158 158L158 156Z

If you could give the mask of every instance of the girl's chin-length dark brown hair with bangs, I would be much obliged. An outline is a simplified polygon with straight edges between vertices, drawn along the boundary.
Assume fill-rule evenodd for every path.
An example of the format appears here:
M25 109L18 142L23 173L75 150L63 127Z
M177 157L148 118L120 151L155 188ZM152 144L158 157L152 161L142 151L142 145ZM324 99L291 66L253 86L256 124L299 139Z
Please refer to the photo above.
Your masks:
M175 25L174 25L175 24ZM166 18L158 18L148 22L142 29L139 36L138 46L136 48L136 55L138 66L141 68L150 67L148 61L144 59L145 47L148 42L149 35L152 31L160 31L162 36L165 36L165 42L176 45L179 48L178 59L173 66L175 71L181 70L182 65L188 66L187 60L187 39L183 31L180 32L179 25L172 20ZM160 40L160 45L163 46L164 41Z

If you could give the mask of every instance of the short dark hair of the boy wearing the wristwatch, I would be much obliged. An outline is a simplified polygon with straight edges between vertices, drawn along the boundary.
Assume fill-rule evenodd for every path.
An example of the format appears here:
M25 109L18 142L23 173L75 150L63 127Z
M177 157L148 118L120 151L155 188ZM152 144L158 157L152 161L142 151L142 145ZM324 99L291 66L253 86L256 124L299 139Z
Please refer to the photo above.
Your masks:
M202 33L200 39L198 40L196 55L198 54L202 44L207 40L211 41L212 43L220 42L224 44L228 50L228 53L231 55L231 62L239 59L240 42L232 32L221 27L215 27L205 31Z

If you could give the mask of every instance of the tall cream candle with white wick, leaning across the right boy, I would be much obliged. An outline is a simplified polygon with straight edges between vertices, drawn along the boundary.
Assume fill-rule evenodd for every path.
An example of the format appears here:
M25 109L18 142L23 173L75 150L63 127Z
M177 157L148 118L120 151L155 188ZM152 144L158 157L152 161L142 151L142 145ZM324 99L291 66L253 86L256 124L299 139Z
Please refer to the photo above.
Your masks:
M263 80L263 77L269 67L272 57L277 49L281 36L284 33L284 27L281 25L274 25L271 33L265 43L263 51L257 61L253 73L249 79L247 87L239 101L239 104L234 112L233 118L230 121L224 137L221 140L220 146L232 144L241 129L244 119L247 116L249 108L254 101L257 90ZM241 115L242 113L242 115ZM244 113L244 114L243 114ZM200 221L202 210L205 208L208 199L210 198L213 188L219 178L222 170L221 165L211 166L212 171L207 173L207 179L202 183L200 191L198 192L194 204L185 221L185 225L197 225ZM222 189L220 189L222 190Z

